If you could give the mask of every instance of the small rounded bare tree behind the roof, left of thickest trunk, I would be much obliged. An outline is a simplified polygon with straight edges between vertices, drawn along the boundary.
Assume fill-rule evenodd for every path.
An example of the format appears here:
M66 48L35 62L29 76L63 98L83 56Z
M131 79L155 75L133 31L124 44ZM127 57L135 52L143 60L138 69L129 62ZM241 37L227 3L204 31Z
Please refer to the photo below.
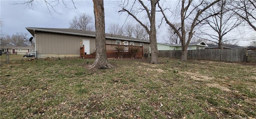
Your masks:
M92 31L94 30L92 17L86 13L80 14L79 16L74 16L70 22L70 28Z

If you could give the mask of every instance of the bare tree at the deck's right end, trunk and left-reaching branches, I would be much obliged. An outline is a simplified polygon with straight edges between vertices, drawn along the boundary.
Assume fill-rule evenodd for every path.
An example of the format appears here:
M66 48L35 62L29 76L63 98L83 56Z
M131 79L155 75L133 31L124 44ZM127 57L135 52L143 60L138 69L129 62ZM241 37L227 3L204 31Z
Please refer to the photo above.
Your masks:
M140 23L141 26L143 26L147 33L149 34L150 38L150 49L151 49L151 61L150 63L156 64L158 63L158 50L157 50L157 43L156 43L156 4L158 3L159 0L150 0L150 3L147 1L138 0L139 4L136 7L141 7L141 8L136 8L133 10L133 6L136 3L136 0L134 0L133 5L131 7L127 7L128 3L122 3L119 6L122 8L119 12L127 12L130 16L132 16L137 22ZM124 1L126 2L126 1ZM146 5L150 4L150 8L147 7ZM143 19L139 19L140 13L146 11L146 17ZM150 27L146 26L146 22L142 23L142 20L145 21L149 20L150 22Z

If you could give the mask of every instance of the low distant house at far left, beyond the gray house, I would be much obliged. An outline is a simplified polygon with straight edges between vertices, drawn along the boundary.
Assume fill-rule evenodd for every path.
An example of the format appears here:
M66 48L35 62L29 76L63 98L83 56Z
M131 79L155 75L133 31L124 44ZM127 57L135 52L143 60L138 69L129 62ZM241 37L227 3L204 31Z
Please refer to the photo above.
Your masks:
M28 52L34 52L34 47L19 47L19 46L0 46L2 53L9 52L10 54L24 55Z

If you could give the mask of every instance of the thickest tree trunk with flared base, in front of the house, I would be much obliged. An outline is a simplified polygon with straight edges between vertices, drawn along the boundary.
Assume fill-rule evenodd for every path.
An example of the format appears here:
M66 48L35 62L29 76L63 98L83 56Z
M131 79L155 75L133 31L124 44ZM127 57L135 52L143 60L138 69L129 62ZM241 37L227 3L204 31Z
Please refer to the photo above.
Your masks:
M96 30L96 57L90 68L106 69L113 67L108 63L105 37L105 17L103 0L92 0L94 5L95 30Z

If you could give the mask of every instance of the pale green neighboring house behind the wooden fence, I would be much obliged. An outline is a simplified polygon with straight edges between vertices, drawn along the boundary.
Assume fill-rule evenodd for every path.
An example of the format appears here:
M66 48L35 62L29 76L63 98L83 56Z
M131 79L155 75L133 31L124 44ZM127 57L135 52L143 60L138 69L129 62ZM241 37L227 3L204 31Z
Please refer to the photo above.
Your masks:
M188 44L188 50L199 50L208 47L204 42L192 42ZM158 50L181 50L181 44L157 43Z

